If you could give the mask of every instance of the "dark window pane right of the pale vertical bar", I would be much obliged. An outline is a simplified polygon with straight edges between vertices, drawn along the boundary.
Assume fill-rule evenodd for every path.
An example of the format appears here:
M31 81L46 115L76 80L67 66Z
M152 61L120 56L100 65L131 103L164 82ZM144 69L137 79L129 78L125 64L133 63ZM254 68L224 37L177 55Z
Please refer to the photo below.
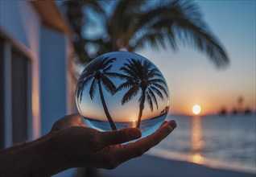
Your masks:
M27 139L29 60L17 51L11 52L11 112L13 143Z

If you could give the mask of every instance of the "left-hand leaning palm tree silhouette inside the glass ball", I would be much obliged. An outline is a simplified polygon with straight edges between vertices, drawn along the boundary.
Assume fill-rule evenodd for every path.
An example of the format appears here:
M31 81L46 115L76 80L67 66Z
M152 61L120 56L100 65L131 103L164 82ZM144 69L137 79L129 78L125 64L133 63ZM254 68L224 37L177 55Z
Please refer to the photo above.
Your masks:
M89 89L89 95L91 97L91 100L93 100L96 90L98 88L100 97L101 97L101 103L103 105L103 109L105 112L105 116L108 118L109 124L112 130L117 130L117 127L114 125L114 121L109 114L109 110L105 103L105 98L104 98L104 94L101 86L102 84L105 90L111 94L114 94L116 92L116 89L117 89L116 86L109 79L109 77L113 77L113 78L118 77L118 73L109 72L109 70L112 68L112 63L114 62L114 60L117 60L117 59L116 58L109 59L109 57L105 57L104 59L99 59L94 61L93 64L89 64L89 66L87 67L88 69L81 74L81 79L78 80L78 84L77 84L78 87L76 88L76 92L77 92L76 99L77 101L81 102L81 99L83 96L83 90L89 83L91 83L90 89Z

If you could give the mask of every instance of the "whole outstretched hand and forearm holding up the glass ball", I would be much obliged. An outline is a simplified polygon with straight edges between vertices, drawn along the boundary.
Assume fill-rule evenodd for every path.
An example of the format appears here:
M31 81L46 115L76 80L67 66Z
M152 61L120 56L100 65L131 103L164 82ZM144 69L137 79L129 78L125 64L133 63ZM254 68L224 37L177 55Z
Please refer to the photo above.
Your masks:
M48 176L71 167L112 169L157 145L175 126L175 121L164 122L154 134L121 145L140 138L140 130L100 132L72 114L56 121L49 134L5 150L0 156L0 176Z

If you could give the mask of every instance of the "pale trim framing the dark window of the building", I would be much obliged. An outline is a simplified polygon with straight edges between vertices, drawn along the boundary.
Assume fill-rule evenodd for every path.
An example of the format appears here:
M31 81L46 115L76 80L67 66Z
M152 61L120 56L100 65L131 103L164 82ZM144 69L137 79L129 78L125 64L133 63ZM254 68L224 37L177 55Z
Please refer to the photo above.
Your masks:
M36 109L36 113L33 113L33 104L32 104L32 96L37 95L35 93L38 93L33 88L33 75L36 74L34 72L39 72L38 67L36 66L39 63L39 59L35 57L35 54L23 43L21 43L18 39L15 39L10 35L4 27L0 27L0 35L2 35L4 39L4 104L5 104L5 110L4 110L4 136L5 136L5 142L4 147L12 146L12 103L11 103L11 53L12 50L18 51L23 56L25 56L29 62L27 64L27 138L29 140L38 138L40 135L40 118L39 118L39 109ZM36 79L39 84L39 78ZM39 88L39 85L38 85ZM38 105L38 98L34 98L36 100ZM35 106L35 105L34 105ZM35 109L35 108L34 108Z

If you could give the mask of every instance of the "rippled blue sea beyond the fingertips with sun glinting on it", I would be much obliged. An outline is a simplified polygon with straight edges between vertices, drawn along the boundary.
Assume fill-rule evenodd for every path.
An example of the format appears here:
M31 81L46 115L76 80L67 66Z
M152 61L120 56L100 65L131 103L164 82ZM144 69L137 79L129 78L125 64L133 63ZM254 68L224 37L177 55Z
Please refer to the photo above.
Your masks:
M177 128L148 154L255 173L255 114L169 116Z

